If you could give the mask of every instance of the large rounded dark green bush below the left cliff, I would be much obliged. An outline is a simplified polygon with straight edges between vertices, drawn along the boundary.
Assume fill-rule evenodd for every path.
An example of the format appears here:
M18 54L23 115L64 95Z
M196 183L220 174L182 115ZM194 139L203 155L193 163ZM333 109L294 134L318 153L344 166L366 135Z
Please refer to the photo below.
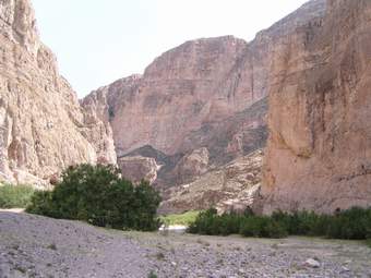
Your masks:
M133 185L116 168L80 165L62 173L53 191L36 192L28 213L84 220L113 229L156 230L160 197L145 181Z

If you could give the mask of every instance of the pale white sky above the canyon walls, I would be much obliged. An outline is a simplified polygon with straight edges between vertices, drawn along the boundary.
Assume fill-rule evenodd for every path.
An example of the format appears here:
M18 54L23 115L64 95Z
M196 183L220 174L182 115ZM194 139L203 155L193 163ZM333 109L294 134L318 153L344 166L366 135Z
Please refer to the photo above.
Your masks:
M33 0L43 41L79 97L143 73L185 40L246 40L307 0Z

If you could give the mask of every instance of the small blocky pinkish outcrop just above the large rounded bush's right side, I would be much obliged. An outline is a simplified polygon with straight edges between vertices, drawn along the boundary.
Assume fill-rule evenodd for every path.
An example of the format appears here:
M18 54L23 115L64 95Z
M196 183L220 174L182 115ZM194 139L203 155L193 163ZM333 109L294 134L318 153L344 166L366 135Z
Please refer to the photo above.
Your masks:
M146 180L151 184L157 179L159 166L154 158L142 156L120 157L118 165L122 177L134 183Z

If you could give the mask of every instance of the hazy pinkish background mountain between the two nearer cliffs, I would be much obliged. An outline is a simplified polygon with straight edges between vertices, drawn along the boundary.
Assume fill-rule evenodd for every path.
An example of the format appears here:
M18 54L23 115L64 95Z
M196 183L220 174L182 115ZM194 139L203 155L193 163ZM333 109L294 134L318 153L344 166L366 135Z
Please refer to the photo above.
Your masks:
M143 75L93 92L83 106L95 101L97 116L112 128L119 157L145 156L144 146L155 150L153 158L167 156L156 160L163 167L155 185L191 182L265 146L276 45L324 13L325 0L314 0L249 44L232 36L187 41L155 59ZM184 160L203 148L207 165L184 170Z

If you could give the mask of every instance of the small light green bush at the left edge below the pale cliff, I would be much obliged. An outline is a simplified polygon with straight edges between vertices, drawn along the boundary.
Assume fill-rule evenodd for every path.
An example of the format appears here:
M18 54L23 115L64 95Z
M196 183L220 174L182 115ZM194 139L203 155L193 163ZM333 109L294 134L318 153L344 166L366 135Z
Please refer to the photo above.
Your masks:
M0 184L0 208L26 207L35 190L27 185Z

